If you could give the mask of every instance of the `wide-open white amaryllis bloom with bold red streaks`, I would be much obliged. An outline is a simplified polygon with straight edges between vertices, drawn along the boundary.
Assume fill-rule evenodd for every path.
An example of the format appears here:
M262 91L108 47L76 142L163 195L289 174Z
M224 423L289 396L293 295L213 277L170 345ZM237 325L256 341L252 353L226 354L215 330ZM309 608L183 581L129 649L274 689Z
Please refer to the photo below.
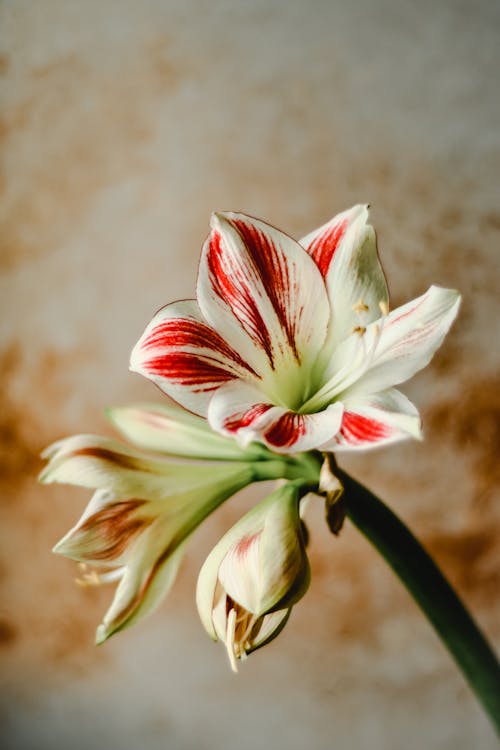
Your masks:
M244 214L214 214L197 301L162 308L131 369L240 444L353 450L420 437L394 386L428 364L460 297L432 286L389 312L366 206L296 242Z

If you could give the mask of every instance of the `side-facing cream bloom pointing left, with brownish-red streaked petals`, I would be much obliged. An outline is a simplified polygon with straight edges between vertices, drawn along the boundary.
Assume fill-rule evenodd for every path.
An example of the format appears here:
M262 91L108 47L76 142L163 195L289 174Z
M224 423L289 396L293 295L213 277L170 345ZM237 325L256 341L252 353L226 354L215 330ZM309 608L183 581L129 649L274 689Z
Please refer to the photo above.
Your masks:
M254 449L239 448L179 408L128 407L111 410L110 417L156 455L110 438L77 435L47 449L49 463L40 476L43 482L96 490L54 551L104 571L87 574L88 582L119 580L98 642L159 604L175 579L186 540L220 503L252 481L291 470L276 456L256 460ZM174 462L158 451L218 460Z

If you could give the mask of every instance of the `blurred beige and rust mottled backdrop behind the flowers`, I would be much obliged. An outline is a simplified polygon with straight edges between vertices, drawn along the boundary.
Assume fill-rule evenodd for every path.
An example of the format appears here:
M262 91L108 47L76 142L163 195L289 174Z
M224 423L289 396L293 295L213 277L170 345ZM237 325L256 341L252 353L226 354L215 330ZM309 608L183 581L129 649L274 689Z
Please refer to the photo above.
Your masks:
M370 202L392 304L463 294L405 388L425 442L342 459L432 551L500 645L500 5L495 0L1 3L2 747L487 750L492 730L401 584L310 515L313 579L238 676L197 572L255 500L198 533L170 598L102 647L112 590L50 553L89 494L40 450L161 400L128 372L158 307L194 295L214 209L300 237Z

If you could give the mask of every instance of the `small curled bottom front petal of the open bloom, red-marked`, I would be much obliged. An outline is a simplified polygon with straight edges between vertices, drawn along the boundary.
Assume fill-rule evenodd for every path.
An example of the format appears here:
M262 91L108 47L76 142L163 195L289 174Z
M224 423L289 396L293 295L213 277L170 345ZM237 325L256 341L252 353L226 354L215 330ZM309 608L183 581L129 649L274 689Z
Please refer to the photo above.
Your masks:
M208 421L242 445L258 441L277 453L299 453L332 438L340 427L342 410L342 404L335 403L316 414L299 414L263 401L257 389L236 382L214 395Z

